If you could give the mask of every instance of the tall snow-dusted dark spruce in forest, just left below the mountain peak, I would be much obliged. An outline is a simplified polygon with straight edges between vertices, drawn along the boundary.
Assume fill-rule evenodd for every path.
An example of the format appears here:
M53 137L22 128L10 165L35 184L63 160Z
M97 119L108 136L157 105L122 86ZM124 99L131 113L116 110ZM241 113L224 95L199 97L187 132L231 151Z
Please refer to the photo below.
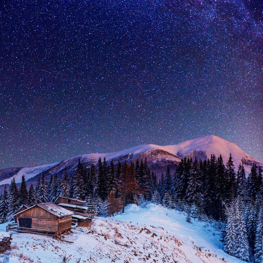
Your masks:
M202 197L201 188L202 188L201 172L199 169L198 161L195 156L195 159L191 165L190 177L186 189L187 200L190 202L200 200Z

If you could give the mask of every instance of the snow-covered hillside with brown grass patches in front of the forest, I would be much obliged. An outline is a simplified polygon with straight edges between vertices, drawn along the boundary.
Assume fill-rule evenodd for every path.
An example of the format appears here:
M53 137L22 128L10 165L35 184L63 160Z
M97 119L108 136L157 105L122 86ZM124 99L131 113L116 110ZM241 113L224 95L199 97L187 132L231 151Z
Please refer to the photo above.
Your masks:
M114 218L95 218L93 230L76 228L65 235L67 243L35 234L13 234L17 249L0 257L0 262L19 262L18 255L31 259L22 262L243 262L222 250L219 231L204 221L185 221L185 214L148 204L126 207ZM0 230L6 224L0 225ZM80 231L82 230L82 231ZM224 258L224 260L222 259ZM2 260L2 261L1 261ZM20 261L21 262L21 261Z

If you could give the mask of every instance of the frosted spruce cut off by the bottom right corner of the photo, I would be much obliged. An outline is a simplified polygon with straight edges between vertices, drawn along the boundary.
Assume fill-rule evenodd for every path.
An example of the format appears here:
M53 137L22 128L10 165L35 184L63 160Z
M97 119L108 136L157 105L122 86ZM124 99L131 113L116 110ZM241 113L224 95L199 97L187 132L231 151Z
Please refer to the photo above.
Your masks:
M262 220L262 206L260 208L259 216L257 219L257 228L256 228L256 238L255 238L255 249L254 249L254 260L255 263L262 263L262 225L263 225L263 220Z

